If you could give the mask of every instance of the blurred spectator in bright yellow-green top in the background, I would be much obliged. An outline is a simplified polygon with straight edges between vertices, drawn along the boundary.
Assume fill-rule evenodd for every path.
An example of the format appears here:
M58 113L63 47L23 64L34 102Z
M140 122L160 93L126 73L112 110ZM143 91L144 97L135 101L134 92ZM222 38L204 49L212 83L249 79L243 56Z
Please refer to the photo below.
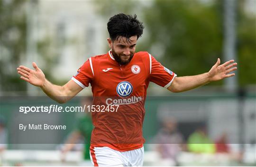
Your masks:
M207 136L204 125L189 136L187 147L190 152L215 153L214 142Z

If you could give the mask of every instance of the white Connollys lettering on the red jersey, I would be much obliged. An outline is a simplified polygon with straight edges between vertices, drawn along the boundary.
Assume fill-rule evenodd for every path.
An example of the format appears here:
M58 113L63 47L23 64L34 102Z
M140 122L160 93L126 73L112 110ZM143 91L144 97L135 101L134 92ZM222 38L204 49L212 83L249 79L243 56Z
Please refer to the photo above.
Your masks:
M106 104L107 105L124 105L124 104L137 103L139 101L142 101L142 97L132 96L128 99L111 99L111 98L108 98L108 99L106 99Z

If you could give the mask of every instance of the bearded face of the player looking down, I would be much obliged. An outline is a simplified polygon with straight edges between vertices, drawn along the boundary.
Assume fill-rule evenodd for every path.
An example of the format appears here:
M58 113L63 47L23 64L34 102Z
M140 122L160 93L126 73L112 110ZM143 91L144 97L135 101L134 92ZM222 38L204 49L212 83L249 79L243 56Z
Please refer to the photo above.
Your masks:
M129 39L119 36L115 41L108 39L112 55L120 65L128 64L134 53L137 42L137 35L131 36Z

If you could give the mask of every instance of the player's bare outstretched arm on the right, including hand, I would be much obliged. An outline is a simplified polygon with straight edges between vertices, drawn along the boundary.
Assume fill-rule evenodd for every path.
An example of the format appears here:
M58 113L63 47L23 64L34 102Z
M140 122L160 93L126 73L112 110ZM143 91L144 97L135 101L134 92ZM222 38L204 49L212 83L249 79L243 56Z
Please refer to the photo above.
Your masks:
M235 73L229 74L237 69L237 67L235 67L237 63L234 63L234 60L229 60L222 65L219 64L220 59L218 58L216 64L211 67L208 73L175 77L173 83L167 89L171 92L184 92L202 86L206 83L219 81L235 75Z

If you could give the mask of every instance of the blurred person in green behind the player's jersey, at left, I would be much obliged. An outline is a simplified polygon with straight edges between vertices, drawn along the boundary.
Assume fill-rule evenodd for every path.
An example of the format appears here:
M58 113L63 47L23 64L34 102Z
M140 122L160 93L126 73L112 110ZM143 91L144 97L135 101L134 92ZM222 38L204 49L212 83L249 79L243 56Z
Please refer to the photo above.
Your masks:
M81 103L82 107L84 105L91 105L91 98L84 98ZM84 147L83 147L83 166L91 166L90 161L90 142L91 142L91 131L93 129L91 121L91 112L88 112L85 109L83 116L80 117L77 121L76 129L70 134L68 140L65 142L62 148L62 159L65 159L65 155L68 151L74 150L77 142L83 138Z

